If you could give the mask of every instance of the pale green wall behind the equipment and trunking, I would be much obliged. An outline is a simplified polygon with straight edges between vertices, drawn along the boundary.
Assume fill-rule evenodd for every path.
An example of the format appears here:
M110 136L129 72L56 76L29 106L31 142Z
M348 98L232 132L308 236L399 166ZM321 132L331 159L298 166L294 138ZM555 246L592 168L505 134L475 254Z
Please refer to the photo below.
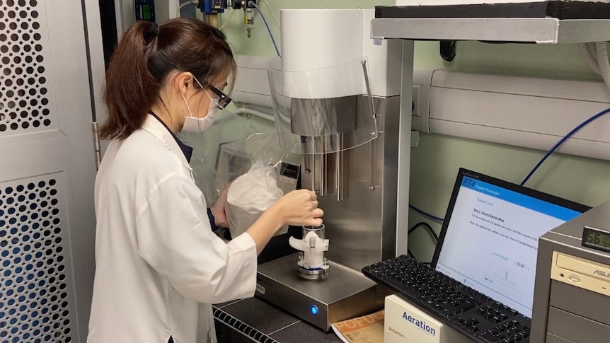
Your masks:
M365 0L265 1L278 19L280 8L305 8L304 6L306 8L357 8L358 6L370 8L374 5L393 4L393 1ZM279 44L280 30L267 14L269 9L264 4L261 8ZM311 24L315 25L315 18L312 18ZM237 54L275 55L271 40L258 14L255 16L253 37L246 37L241 13L234 15L224 25L224 31ZM437 42L416 42L415 67L551 79L598 80L580 57L577 45L497 45L459 42L456 59L449 63L439 57ZM575 123L575 126L576 124L578 123ZM457 168L470 168L519 183L543 154L544 151L514 146L439 134L420 134L420 146L412 150L410 202L432 214L444 216ZM575 202L596 206L610 199L610 162L555 154L543 164L527 186ZM411 211L411 224L421 219L421 216ZM432 223L430 220L427 221ZM438 231L439 224L432 223L432 225ZM416 257L427 260L432 255L432 242L431 236L424 230L418 229L410 236L409 247Z

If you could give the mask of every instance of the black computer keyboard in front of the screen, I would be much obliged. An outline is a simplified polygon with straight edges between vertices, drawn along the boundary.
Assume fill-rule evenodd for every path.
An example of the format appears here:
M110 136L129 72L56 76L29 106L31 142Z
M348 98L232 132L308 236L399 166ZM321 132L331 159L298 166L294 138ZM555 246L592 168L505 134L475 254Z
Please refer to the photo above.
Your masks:
M529 342L529 318L407 255L362 273L475 342Z

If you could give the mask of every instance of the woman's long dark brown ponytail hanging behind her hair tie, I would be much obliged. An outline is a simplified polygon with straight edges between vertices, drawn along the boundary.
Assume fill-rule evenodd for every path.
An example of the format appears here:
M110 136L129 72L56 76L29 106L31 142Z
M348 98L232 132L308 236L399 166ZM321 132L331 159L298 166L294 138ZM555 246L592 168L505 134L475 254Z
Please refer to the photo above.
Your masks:
M108 121L100 129L102 139L125 139L144 124L159 93L159 82L147 66L158 30L156 23L139 21L119 42L106 73Z

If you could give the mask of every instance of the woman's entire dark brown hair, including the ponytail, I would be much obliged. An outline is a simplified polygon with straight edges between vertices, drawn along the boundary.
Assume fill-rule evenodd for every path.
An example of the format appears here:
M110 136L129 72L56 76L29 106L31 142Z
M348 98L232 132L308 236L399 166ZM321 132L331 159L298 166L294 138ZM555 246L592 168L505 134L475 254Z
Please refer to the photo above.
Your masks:
M125 139L139 129L174 70L189 71L205 87L223 74L234 78L236 63L224 33L202 21L134 23L108 66L104 91L108 120L100 129L101 138Z

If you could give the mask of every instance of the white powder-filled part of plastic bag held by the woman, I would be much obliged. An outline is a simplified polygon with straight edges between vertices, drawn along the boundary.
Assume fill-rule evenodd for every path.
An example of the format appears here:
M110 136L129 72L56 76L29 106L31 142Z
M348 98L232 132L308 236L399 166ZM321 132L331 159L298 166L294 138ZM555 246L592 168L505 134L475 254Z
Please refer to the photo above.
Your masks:
M277 187L275 175L271 165L258 159L246 174L231 183L226 193L226 215L232 238L246 232L266 209L284 195ZM286 230L282 228L276 235Z

